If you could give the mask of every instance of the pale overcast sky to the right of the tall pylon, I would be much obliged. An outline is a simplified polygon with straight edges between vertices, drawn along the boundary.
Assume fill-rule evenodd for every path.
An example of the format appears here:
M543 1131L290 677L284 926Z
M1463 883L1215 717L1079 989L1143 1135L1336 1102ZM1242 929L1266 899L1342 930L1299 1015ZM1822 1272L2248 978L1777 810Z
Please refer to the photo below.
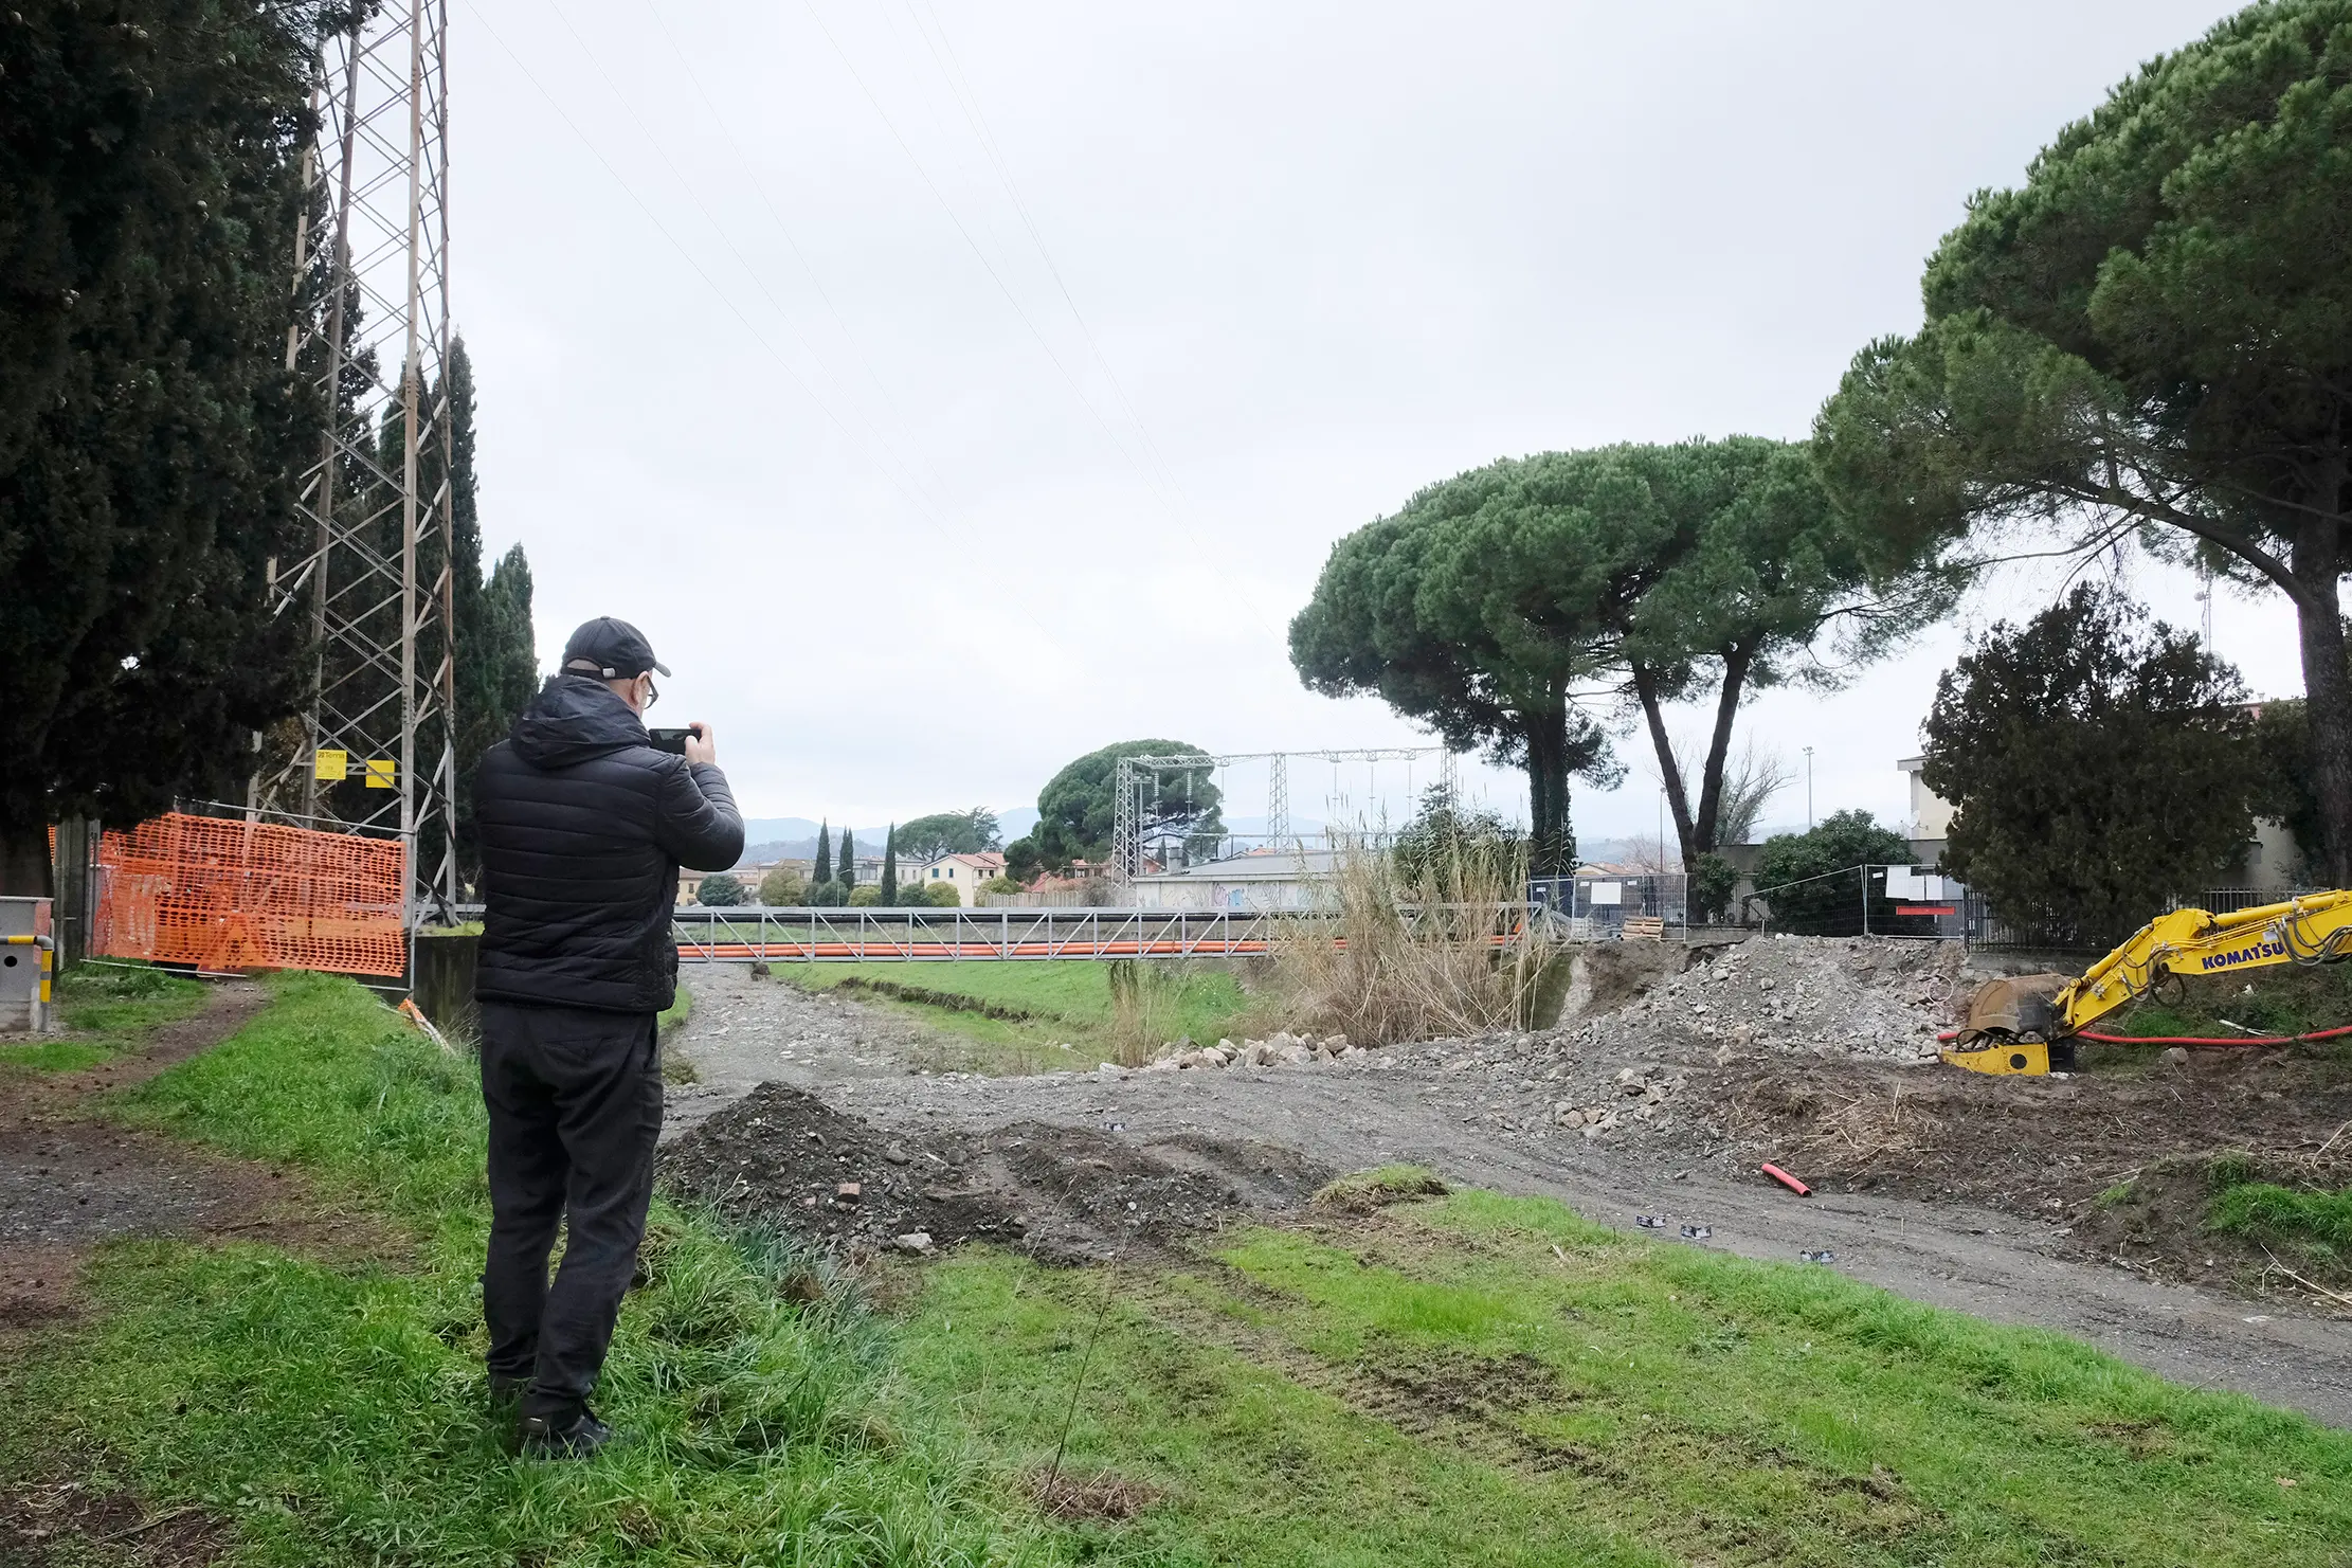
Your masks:
M1018 806L1131 736L1414 743L1289 668L1334 538L1496 456L1802 437L1966 195L2220 14L459 0L485 531L543 661L652 635L757 816ZM2051 583L1745 722L1898 818L1936 672ZM2218 644L2300 689L2277 604ZM1573 811L1649 832L1656 785Z

